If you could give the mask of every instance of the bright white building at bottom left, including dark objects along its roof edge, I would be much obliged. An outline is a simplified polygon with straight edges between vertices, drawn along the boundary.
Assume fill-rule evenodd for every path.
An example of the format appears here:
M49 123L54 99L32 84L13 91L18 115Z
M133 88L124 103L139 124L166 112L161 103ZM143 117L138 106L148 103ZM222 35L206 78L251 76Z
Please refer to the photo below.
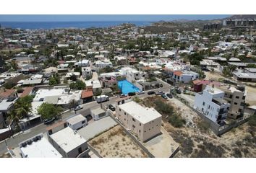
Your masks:
M27 139L19 144L20 154L23 158L61 158L59 151L43 137L43 133Z

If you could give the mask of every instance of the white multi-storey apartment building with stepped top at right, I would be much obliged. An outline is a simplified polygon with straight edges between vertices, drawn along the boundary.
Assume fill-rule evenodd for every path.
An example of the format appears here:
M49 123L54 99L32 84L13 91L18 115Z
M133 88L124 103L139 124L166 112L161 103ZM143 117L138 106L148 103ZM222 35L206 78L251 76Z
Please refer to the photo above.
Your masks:
M225 92L206 86L203 92L195 95L194 108L215 123L221 124L229 111L230 104L224 100Z

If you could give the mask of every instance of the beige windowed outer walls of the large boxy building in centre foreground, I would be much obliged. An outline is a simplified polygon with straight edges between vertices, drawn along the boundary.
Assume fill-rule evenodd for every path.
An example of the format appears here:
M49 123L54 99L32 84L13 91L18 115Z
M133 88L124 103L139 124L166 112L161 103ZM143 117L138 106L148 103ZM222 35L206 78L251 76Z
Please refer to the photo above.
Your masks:
M152 138L159 133L161 133L161 117L156 118L153 121L148 123L140 123L139 120L136 120L124 110L121 110L120 107L116 107L116 116L124 123L124 126L132 132L136 133L141 141L146 141L149 138Z

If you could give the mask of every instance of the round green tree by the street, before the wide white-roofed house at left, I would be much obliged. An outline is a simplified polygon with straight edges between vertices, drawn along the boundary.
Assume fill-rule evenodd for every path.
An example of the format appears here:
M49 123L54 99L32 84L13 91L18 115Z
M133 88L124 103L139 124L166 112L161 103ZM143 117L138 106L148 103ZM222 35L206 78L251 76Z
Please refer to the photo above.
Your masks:
M38 107L38 114L43 118L43 120L51 119L52 117L59 117L62 111L62 107L56 107L55 105L46 102Z

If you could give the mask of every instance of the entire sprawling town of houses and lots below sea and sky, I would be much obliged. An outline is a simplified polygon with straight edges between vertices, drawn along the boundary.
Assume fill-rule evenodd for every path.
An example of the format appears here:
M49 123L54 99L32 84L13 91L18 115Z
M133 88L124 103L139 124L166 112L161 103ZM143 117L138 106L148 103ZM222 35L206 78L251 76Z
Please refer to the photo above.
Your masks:
M0 19L0 157L256 157L256 15Z

